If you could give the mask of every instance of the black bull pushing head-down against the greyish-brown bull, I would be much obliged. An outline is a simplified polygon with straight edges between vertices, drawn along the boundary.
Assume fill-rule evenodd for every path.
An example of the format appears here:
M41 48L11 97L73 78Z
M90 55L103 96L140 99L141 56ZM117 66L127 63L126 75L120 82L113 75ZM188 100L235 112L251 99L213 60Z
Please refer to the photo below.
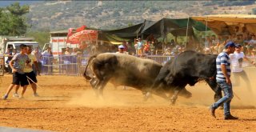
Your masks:
M214 90L214 100L217 101L222 98L222 91L215 80L217 73L216 58L217 55L214 54L200 54L192 50L186 50L166 62L148 91L160 94L162 90L172 89L174 94L170 100L174 103L178 93L187 84L194 86L202 79Z

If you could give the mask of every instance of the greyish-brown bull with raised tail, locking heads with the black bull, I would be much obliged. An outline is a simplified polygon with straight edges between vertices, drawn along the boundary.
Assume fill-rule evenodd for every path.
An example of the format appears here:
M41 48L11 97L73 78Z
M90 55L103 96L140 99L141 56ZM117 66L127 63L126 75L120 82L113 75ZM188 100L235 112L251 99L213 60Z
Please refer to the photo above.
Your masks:
M94 77L87 73L88 66L90 66ZM161 68L161 64L150 59L136 58L126 54L105 53L90 57L84 77L90 80L90 85L96 90L97 95L102 95L107 82L112 82L117 86L131 86L146 94L146 90L153 85ZM153 93L169 99L166 92L173 93L173 90L166 89L163 94ZM182 89L180 95L186 98L191 96L185 88Z

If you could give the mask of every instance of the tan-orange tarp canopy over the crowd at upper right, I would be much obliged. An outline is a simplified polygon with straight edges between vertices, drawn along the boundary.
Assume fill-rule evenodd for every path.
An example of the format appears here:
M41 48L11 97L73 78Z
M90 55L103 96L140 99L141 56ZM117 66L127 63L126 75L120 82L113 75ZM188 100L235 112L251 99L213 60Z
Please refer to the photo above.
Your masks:
M246 27L251 33L256 33L256 15L249 14L214 14L202 17L192 17L195 21L202 22L216 34L222 34L223 29L228 29L230 34L234 33L234 26L242 29Z

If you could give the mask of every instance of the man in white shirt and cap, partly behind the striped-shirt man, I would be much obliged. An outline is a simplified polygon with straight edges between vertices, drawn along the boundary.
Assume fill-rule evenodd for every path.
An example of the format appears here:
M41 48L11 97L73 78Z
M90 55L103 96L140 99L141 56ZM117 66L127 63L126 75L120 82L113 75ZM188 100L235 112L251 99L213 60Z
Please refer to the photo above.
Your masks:
M242 61L243 59L255 65L255 62L250 61L249 58L246 58L245 54L241 51L242 46L237 44L235 46L234 54L230 54L231 59L231 72L234 74L234 86L240 85L240 77L246 82L248 90L251 90L249 78L244 70L242 70Z

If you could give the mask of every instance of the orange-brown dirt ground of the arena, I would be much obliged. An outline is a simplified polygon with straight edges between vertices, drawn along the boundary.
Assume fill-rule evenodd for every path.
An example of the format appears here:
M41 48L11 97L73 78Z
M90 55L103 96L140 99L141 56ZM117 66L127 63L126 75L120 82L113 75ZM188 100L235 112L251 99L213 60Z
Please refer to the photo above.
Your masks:
M109 84L104 99L95 98L90 84L82 77L39 76L38 94L32 96L30 86L25 99L0 99L0 126L52 131L256 131L256 69L247 68L252 90L242 81L234 86L236 96L231 113L237 121L223 120L223 110L217 118L210 116L208 107L214 102L214 92L205 82L186 86L192 98L178 98L170 106L154 96L143 102L142 92ZM11 82L11 76L0 77L0 95ZM21 91L21 90L19 90ZM238 99L240 98L240 99Z

